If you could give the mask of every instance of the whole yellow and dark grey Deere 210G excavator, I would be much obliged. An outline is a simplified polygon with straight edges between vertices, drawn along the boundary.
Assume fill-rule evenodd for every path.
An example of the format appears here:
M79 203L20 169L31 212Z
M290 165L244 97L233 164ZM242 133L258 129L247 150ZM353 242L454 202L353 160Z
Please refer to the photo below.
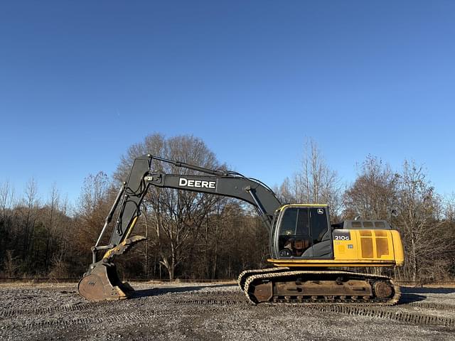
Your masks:
M152 160L201 175L154 171ZM327 205L283 205L267 185L254 178L146 154L134 159L127 181L122 184L92 247L92 264L78 283L80 295L88 301L134 296L134 289L119 279L113 259L145 239L132 236L132 231L150 186L224 195L255 207L269 230L267 261L273 264L267 269L243 271L238 277L240 288L255 305L393 305L400 298L400 287L392 278L358 272L404 263L400 234L385 220L345 220L331 224ZM101 245L117 208L109 244Z

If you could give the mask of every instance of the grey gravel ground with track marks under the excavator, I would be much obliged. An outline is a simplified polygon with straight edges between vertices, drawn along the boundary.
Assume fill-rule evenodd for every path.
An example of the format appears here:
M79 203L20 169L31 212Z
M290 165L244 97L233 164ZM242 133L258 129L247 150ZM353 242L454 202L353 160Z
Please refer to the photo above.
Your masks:
M455 340L455 288L402 288L393 307L251 305L235 285L133 283L89 303L75 284L0 285L0 340Z

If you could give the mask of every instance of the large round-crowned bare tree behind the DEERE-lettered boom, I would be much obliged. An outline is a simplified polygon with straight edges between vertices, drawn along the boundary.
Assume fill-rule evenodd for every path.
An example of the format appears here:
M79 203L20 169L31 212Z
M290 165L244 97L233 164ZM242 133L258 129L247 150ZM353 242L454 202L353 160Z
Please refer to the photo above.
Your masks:
M134 144L122 157L114 177L123 180L131 168L132 161L137 156L151 153L171 160L202 166L218 168L213 152L193 136L176 136L166 139L161 134L147 136L144 143ZM166 163L153 161L154 171L164 173L197 173L186 168L175 168ZM188 258L191 249L191 239L199 237L200 228L205 217L215 207L216 199L213 195L202 193L172 190L166 188L150 188L144 200L144 205L150 212L149 224L153 224L156 231L161 264L163 264L170 279L175 277L176 267Z

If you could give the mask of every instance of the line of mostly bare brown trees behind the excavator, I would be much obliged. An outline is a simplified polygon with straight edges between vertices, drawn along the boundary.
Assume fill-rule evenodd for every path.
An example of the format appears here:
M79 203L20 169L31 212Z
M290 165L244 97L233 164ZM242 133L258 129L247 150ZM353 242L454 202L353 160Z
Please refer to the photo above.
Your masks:
M145 153L227 168L200 139L154 134L129 148L112 177L102 172L87 176L73 207L55 187L41 200L34 180L21 197L9 183L1 183L0 276L82 276L119 183L127 178L133 159ZM156 171L196 173L153 162ZM455 196L436 193L424 168L413 161L392 170L368 156L358 165L353 183L346 185L310 140L299 171L274 190L282 202L328 203L333 222L357 216L391 222L405 244L405 266L395 271L400 280L455 277ZM242 202L150 188L141 212L134 234L146 241L116 259L125 278L236 278L243 269L267 266L267 229ZM109 237L102 242L107 244Z

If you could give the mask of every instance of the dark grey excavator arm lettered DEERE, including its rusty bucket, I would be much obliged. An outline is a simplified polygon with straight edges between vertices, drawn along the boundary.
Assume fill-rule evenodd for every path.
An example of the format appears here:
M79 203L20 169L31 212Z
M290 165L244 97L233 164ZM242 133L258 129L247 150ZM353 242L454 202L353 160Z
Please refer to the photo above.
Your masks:
M176 167L205 173L205 175L178 175L153 171L151 165L154 159L171 163ZM246 178L240 173L192 166L150 154L136 158L127 181L123 183L107 215L95 247L92 247L92 264L79 282L80 294L89 301L122 299L132 293L132 288L119 280L112 259L115 255L123 254L133 244L145 239L141 236L130 237L130 235L141 215L141 202L149 186L223 195L249 202L255 207L262 223L269 230L274 212L281 206L281 202L267 185L259 180ZM117 207L119 207L117 220L112 229L109 244L100 246ZM99 251L105 251L100 260L98 260Z

